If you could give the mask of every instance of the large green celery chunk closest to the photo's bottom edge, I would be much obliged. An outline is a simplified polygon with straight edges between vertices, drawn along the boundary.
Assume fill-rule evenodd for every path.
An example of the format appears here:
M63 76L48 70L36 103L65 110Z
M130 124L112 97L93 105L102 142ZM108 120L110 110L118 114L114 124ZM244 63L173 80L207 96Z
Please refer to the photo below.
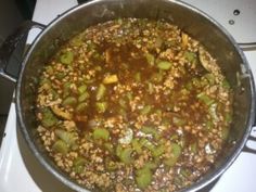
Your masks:
M136 175L137 175L136 176L137 185L141 190L146 189L146 187L151 184L152 172L149 168L139 169L139 170L137 170Z

